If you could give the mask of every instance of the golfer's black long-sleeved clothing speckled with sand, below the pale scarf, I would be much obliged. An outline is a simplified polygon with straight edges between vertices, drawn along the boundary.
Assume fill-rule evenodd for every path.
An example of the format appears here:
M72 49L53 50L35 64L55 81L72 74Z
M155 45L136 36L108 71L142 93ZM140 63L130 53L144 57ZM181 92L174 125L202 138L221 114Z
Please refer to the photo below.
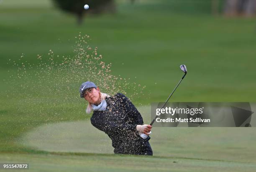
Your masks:
M106 110L93 112L92 125L110 137L115 153L140 155L150 139L142 139L136 130L137 125L143 125L141 114L121 93L106 98L106 102Z

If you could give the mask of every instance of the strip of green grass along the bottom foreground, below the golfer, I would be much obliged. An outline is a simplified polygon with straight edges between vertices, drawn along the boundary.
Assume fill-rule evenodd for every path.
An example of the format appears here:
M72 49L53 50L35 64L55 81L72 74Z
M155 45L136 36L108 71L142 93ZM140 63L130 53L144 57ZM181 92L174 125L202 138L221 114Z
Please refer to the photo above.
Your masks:
M252 163L197 160L179 157L138 157L128 155L97 154L1 154L1 162L29 162L29 171L76 171L87 172L141 172L141 171L175 171L175 172L253 172L256 165Z

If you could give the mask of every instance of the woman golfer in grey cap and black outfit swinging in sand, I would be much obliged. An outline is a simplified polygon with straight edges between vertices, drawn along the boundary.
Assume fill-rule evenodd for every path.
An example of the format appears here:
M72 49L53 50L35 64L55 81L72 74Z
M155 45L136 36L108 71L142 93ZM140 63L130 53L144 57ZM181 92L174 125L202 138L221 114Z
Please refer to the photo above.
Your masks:
M148 142L152 127L143 125L141 114L125 95L110 97L87 81L80 87L80 97L88 101L92 125L110 137L115 153L153 155Z

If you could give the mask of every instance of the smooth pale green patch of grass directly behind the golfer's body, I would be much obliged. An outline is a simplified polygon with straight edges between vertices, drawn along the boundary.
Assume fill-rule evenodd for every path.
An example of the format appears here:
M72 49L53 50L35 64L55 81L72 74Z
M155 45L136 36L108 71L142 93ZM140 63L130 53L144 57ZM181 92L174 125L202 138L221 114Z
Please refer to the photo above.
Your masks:
M138 109L149 123L150 106ZM187 157L237 162L256 162L254 128L154 127L154 156ZM36 127L16 143L48 152L113 153L111 140L90 121L59 122ZM102 143L105 144L102 144ZM236 156L239 155L239 156Z

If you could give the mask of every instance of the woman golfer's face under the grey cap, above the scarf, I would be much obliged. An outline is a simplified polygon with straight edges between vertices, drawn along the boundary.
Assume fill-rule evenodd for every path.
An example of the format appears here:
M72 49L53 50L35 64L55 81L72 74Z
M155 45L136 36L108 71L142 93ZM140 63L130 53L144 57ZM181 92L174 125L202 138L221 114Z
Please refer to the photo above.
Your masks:
M100 89L97 88L88 88L84 92L84 99L92 104L100 104Z

